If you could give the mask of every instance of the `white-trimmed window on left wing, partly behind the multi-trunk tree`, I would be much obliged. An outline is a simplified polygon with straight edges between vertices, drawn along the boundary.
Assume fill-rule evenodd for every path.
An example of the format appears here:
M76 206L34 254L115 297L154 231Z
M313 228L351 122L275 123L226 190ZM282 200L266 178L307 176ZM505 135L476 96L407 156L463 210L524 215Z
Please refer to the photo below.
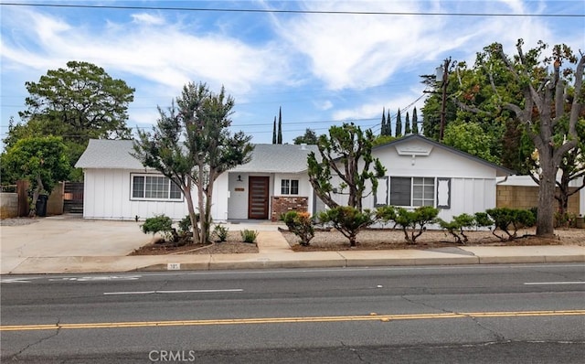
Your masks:
M181 189L164 176L132 175L132 199L180 200Z

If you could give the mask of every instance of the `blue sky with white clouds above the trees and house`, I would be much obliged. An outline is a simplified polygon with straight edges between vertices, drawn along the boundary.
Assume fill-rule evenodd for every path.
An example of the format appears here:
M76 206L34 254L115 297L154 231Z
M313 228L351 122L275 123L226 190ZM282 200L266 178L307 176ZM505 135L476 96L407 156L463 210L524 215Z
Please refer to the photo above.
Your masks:
M518 38L585 51L583 0L0 0L0 12L0 138L26 109L25 82L69 60L135 89L133 130L152 129L187 82L206 82L234 98L233 132L270 144L279 108L283 143L349 122L378 134L383 109L403 120L420 110L420 75L448 58L473 64L494 42L508 54Z

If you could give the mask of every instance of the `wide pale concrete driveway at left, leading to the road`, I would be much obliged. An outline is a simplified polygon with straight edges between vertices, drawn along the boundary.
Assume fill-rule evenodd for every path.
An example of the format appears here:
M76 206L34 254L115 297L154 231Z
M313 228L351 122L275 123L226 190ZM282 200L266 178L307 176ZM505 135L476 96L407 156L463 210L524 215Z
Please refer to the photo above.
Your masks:
M27 225L1 226L0 273L13 271L30 257L127 255L152 240L140 230L140 224L61 215Z

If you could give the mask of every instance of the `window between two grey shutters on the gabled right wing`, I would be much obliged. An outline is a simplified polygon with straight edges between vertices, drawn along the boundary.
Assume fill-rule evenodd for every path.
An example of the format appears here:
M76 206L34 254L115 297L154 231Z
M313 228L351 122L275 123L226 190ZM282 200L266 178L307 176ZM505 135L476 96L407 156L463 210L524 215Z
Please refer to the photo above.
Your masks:
M434 206L434 177L390 177L390 205Z

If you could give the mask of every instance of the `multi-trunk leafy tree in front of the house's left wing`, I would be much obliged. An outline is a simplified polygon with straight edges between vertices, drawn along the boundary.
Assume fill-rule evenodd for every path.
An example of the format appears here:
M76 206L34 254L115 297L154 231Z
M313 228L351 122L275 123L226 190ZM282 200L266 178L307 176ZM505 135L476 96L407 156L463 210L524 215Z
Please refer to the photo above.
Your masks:
M139 132L134 144L133 155L144 166L156 169L180 187L196 243L209 240L214 182L230 168L250 161L251 136L229 132L233 106L233 98L223 88L214 93L205 83L189 82L168 113L159 108L160 119L153 133ZM197 187L200 230L191 197L193 185Z

